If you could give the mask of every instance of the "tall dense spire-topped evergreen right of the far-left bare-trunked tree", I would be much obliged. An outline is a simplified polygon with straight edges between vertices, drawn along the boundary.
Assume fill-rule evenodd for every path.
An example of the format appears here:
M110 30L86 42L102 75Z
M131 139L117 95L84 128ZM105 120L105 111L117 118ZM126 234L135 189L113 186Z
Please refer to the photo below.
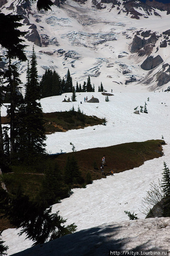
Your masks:
M40 90L33 48L30 80L26 83L25 103L16 113L16 148L20 161L32 162L39 154L45 153L45 128L40 102Z

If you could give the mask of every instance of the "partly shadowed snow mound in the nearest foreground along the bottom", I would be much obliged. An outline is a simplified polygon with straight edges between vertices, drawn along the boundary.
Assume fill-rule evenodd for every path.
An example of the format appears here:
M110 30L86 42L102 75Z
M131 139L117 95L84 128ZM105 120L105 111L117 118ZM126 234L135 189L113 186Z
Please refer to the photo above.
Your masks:
M15 256L101 256L112 255L116 249L169 250L169 237L170 218L111 222L32 247Z

